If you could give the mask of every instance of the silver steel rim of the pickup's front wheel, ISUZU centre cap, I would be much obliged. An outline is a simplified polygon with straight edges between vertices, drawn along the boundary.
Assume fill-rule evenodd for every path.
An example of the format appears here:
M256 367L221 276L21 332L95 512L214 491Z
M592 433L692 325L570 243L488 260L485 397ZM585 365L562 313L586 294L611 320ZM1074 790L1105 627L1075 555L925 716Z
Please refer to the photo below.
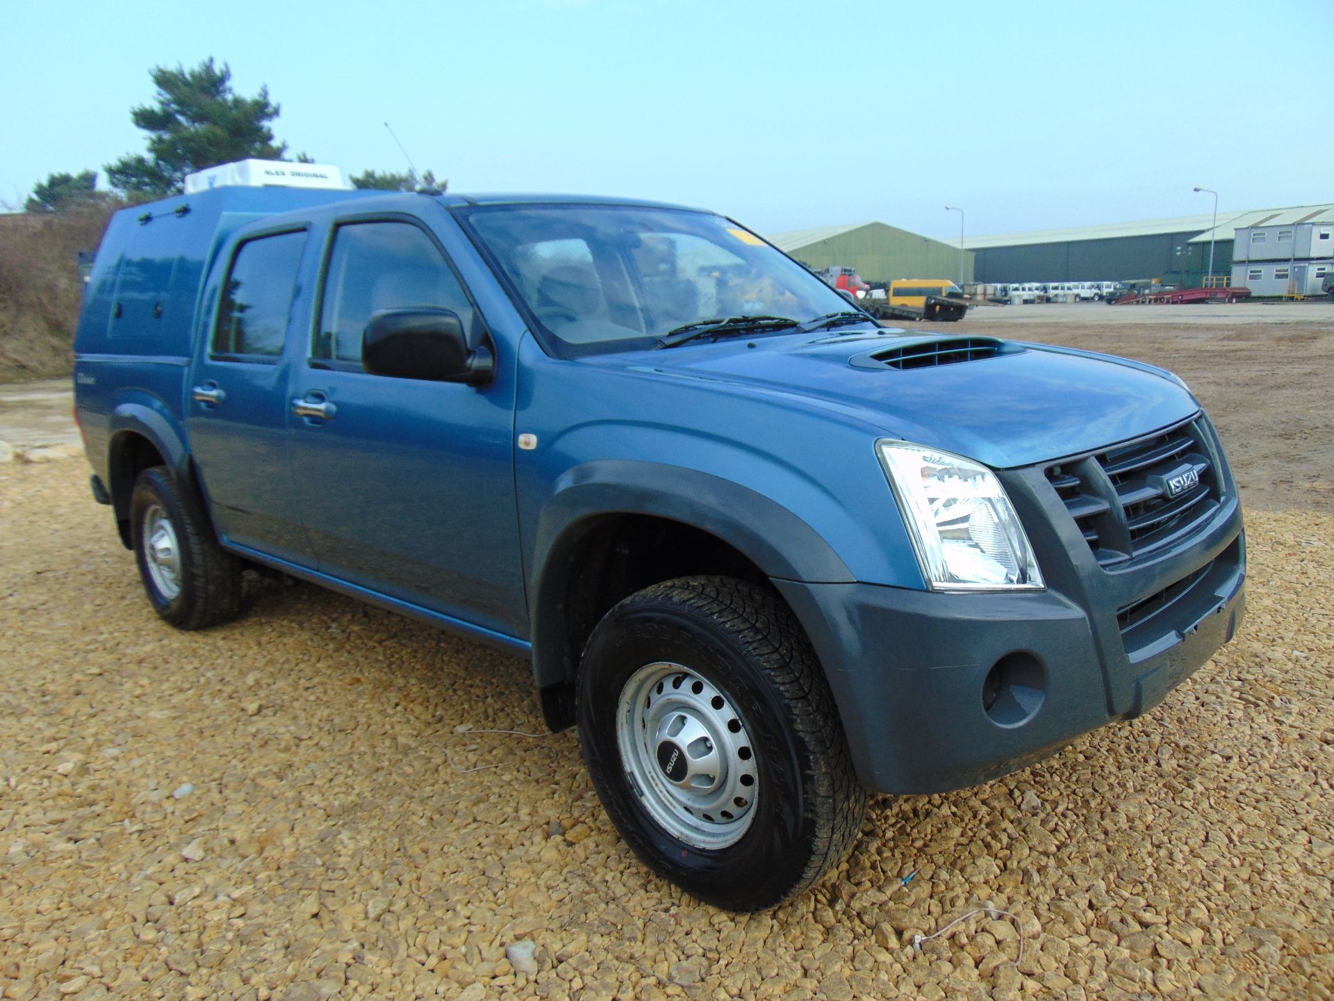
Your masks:
M755 819L759 761L740 714L702 674L659 661L620 690L616 743L631 793L674 838L735 845Z

